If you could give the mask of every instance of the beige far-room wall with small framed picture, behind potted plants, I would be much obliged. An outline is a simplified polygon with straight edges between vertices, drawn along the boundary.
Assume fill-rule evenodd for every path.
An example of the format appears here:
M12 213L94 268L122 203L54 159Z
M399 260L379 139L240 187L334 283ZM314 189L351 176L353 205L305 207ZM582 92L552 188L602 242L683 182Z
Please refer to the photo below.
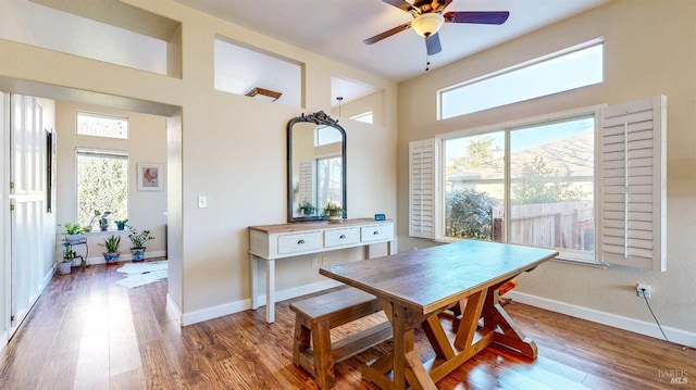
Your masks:
M147 243L147 256L164 255L166 224L166 175L164 190L138 191L136 167L138 163L162 164L166 173L166 118L162 116L141 114L128 111L113 110L103 106L58 102L57 109L57 215L60 224L75 222L76 191L75 191L75 149L89 148L128 153L128 225L138 231L150 230L154 240ZM76 112L96 112L101 114L124 116L128 118L128 139L112 139L103 137L78 136L76 129ZM113 225L113 224L112 224ZM112 226L113 227L113 226ZM98 231L92 226L92 232L87 235L89 244L89 263L103 263L103 240L112 234ZM59 229L59 232L63 231ZM124 259L130 241L127 230L120 234L121 253ZM60 250L60 248L59 248Z

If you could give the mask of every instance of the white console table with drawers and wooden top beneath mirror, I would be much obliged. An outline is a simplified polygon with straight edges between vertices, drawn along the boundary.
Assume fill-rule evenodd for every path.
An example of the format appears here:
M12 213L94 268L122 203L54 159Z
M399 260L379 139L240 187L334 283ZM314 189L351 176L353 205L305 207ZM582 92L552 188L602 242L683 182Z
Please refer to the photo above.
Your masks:
M259 272L257 262L265 261L266 323L275 320L275 261L302 254L312 254L345 248L365 247L386 242L388 254L394 254L394 221L370 218L326 221L293 224L249 226L249 268L251 269L251 309L259 307Z

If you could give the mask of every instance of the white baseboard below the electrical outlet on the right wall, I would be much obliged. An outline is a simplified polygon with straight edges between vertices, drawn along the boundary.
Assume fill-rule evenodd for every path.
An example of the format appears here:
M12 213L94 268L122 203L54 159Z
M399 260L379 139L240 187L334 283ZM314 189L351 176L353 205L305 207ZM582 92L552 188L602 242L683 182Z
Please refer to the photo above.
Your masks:
M657 324L646 323L643 320L624 317L611 313L600 312L594 309L577 306L574 304L540 298L519 291L510 291L506 298L512 299L520 303L531 306L545 309L551 312L570 315L573 317L591 320L593 323L611 326L614 328L632 331L644 336L654 337L656 339L664 339ZM662 330L667 338L676 344L696 348L696 334L682 329L675 329L662 326Z

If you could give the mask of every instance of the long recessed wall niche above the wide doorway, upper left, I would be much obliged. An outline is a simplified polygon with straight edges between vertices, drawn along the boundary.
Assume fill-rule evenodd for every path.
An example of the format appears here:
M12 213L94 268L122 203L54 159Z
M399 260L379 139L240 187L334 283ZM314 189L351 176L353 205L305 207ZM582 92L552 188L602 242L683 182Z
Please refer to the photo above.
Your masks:
M133 7L104 9L111 11L109 18L96 15L94 11L79 12L90 9L85 7L87 2L41 2L51 7L28 0L0 1L0 14L8 22L0 25L0 38L161 75L179 76L179 66L167 63L167 42L176 39L177 22ZM103 4L114 2L121 3L108 1ZM65 4L82 7L69 10L53 8ZM119 23L130 20L134 13L142 16L138 18L142 28L137 28L133 21L125 25ZM92 16L109 20L109 23ZM147 24L151 25L147 27Z

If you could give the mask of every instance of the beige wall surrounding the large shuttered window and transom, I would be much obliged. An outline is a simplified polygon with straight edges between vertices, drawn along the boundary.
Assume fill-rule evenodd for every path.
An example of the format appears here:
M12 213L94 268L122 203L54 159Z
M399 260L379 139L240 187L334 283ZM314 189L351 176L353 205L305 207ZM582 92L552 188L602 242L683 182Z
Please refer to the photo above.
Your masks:
M654 324L635 286L652 286L650 304L661 324L696 344L696 2L614 0L594 11L482 52L469 60L399 85L398 221L399 247L424 247L408 239L408 142L489 124L533 117L600 103L618 104L655 95L668 97L668 271L606 269L551 262L520 277L515 291L637 322ZM538 98L480 113L436 121L436 91L534 59L605 37L601 85ZM446 50L446 49L445 49ZM432 97L414 99L413 97ZM415 106L418 105L418 108Z

